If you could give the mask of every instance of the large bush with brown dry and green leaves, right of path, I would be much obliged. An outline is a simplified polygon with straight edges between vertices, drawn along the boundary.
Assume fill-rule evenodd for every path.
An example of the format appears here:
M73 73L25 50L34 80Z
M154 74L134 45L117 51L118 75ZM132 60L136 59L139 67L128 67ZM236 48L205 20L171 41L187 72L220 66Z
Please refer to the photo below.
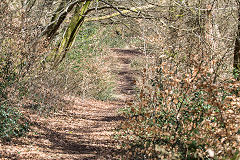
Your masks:
M238 159L240 83L203 65L144 70L119 132L125 159Z

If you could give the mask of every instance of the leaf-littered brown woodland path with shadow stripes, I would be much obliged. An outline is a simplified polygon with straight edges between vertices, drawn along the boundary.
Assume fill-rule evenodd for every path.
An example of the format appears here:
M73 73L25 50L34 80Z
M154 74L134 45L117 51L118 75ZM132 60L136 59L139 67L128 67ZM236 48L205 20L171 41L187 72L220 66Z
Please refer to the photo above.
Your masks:
M79 97L50 117L30 114L32 129L26 137L0 144L0 159L13 160L91 160L117 159L120 145L113 137L123 117L118 110L134 97L135 77L131 60L141 52L131 49L109 49L110 71L118 80L116 98L103 102Z

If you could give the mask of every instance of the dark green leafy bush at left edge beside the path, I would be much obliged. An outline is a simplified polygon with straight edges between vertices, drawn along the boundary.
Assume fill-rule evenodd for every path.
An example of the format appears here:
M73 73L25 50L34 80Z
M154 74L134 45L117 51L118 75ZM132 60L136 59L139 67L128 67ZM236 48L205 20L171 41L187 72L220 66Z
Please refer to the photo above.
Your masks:
M9 59L1 58L0 64L0 139L9 141L28 132L30 124L9 100L9 93L17 83L18 75L13 71ZM19 93L18 96L21 96L20 88L16 91Z

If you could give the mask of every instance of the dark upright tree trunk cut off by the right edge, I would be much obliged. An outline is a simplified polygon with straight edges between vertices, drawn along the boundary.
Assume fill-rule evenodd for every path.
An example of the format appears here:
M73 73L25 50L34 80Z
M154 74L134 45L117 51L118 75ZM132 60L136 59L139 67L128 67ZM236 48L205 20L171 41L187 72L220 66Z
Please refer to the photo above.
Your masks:
M234 62L233 67L235 70L235 73L240 72L240 2L237 1L238 4L238 28L237 28L237 35L235 40L235 46L234 46ZM240 78L240 76L238 76Z

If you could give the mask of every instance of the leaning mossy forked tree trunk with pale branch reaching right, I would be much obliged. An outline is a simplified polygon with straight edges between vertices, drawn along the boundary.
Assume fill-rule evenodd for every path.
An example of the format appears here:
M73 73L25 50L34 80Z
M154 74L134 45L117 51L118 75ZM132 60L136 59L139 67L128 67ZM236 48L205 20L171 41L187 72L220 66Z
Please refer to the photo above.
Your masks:
M98 0L96 0L98 1ZM86 15L92 11L93 9L89 9L90 4L93 0L79 0L73 1L70 0L62 0L57 11L52 17L51 23L46 27L46 29L42 32L41 35L46 35L50 40L54 38L54 35L58 31L60 25L65 20L67 14L74 9L75 11L70 18L70 23L67 26L61 41L58 44L57 49L53 52L54 54L54 65L53 67L58 66L62 60L66 57L67 52L71 49L76 35L78 34L83 22L86 21L99 21L104 19L109 19L115 16L119 16L121 14L128 14L129 12L138 12L143 9L153 8L153 5L141 6L141 7L132 7L128 10L122 10L121 13L116 12L110 15L102 16L102 17L92 17L86 19ZM102 7L104 9L104 7Z

